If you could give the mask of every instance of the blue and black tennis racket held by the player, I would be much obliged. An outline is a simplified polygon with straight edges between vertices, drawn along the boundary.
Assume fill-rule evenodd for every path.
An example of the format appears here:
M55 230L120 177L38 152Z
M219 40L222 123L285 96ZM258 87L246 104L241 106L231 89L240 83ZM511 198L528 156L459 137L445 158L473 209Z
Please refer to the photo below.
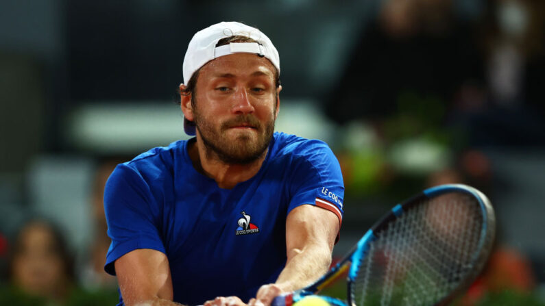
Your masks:
M444 305L481 272L492 249L494 209L470 186L441 185L393 207L339 264L302 290L274 298L291 306L348 271L348 306Z

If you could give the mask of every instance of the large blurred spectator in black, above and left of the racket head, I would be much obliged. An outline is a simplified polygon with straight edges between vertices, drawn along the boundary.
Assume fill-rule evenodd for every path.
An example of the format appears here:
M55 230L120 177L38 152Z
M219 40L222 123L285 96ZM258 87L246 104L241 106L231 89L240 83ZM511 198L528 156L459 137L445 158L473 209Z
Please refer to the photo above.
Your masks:
M383 3L328 101L327 113L339 123L380 120L415 100L444 109L463 83L483 79L474 25L455 14L452 0Z

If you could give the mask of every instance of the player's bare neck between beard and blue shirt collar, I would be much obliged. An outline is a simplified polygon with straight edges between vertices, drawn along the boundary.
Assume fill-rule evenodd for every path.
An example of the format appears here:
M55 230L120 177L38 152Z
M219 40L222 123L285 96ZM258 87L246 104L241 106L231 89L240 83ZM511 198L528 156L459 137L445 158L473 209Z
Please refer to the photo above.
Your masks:
M197 172L214 179L219 188L231 189L258 173L269 149L265 149L263 154L250 164L228 164L221 161L216 153L206 150L204 143L198 139L188 144L189 157L193 166Z

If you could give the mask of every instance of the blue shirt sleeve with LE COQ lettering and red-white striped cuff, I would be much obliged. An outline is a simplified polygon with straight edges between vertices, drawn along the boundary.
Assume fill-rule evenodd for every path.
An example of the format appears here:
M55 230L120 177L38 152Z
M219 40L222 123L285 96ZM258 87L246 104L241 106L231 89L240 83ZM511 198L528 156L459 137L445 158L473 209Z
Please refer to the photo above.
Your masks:
M310 204L328 209L342 223L344 185L339 161L324 142L309 142L295 160L288 214L299 205Z

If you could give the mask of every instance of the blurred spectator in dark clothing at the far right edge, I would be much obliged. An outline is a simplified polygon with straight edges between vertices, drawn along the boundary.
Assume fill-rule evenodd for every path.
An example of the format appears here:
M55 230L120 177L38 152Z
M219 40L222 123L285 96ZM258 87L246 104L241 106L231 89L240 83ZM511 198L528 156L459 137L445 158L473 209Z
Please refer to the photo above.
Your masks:
M471 146L543 146L545 2L488 0L477 40L484 83L468 82L451 122Z

